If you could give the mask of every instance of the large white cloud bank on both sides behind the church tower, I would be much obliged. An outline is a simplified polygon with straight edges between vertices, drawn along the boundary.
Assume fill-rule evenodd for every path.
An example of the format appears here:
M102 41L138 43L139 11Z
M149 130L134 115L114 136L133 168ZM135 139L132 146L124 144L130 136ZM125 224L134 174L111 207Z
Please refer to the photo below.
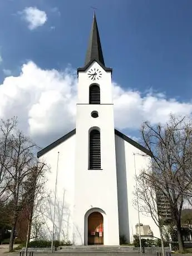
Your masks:
M77 80L75 71L42 70L35 63L22 66L17 77L0 85L0 117L18 116L19 125L41 146L50 144L75 127ZM190 102L166 99L162 93L142 96L113 84L115 124L118 129L139 129L142 121L168 120L170 112L189 115Z

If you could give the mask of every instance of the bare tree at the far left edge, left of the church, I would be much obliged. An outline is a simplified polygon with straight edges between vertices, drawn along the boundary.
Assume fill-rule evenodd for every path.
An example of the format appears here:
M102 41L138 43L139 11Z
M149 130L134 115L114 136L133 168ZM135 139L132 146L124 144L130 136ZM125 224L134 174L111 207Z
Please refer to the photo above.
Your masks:
M0 200L12 202L11 238L13 249L18 215L23 207L23 183L36 161L37 146L17 128L17 118L0 123Z

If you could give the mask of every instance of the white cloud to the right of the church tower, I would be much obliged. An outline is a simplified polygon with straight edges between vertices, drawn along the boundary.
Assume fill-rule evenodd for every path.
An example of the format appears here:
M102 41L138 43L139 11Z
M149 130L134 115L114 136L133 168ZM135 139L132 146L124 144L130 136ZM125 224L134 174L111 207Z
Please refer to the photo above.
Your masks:
M152 124L164 123L172 112L177 115L190 115L192 104L166 99L163 93L147 93L142 96L139 91L123 90L114 85L114 107L116 126L120 129L138 129L143 121Z

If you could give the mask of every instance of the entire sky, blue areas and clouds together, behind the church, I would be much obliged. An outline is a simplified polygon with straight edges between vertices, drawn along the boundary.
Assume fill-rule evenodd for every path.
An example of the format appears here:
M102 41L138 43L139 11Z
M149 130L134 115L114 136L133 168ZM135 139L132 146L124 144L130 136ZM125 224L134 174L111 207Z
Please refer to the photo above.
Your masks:
M92 7L116 128L139 140L143 121L191 115L191 0L0 0L0 117L41 147L75 127Z

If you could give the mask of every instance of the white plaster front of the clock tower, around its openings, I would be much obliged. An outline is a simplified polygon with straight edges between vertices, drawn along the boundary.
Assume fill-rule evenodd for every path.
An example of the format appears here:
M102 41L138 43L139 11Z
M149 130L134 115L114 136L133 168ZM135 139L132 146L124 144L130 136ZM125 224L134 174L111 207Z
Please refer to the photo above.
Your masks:
M102 68L97 62L92 68ZM99 80L101 104L89 105L87 72L78 75L78 103L76 122L76 169L75 169L75 240L76 244L86 244L85 214L91 208L105 211L104 244L119 244L119 222L117 207L117 182L115 158L114 111L111 93L111 73L102 70ZM105 104L105 105L102 105ZM91 117L96 110L99 117ZM91 127L99 127L101 133L101 169L88 170L88 136Z

